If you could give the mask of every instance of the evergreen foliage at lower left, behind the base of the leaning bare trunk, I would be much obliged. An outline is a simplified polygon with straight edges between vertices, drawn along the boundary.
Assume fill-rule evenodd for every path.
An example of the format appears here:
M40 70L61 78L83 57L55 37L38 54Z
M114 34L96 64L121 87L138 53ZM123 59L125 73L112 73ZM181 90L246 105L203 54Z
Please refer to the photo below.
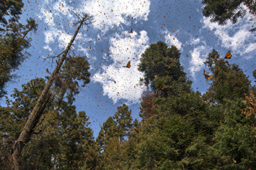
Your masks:
M14 90L14 101L7 100L7 107L1 113L1 167L12 167L12 145L25 125L33 105L45 86L45 80L37 78L22 91ZM58 112L56 99L51 98L45 105L43 116L31 135L30 145L26 145L19 159L21 169L76 169L93 168L96 162L96 143L89 118L84 112L76 113L75 106L62 101ZM56 103L56 104L54 104Z

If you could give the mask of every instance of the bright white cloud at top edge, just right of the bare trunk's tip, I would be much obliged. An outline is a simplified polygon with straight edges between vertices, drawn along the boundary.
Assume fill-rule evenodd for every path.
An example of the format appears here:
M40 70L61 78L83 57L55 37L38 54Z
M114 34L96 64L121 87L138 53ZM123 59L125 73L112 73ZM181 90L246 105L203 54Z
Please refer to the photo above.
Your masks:
M94 27L97 29L109 29L110 27L119 26L121 23L130 24L133 20L147 20L149 15L149 0L90 0L84 4L81 11L89 12L94 16ZM126 18L127 17L127 18Z

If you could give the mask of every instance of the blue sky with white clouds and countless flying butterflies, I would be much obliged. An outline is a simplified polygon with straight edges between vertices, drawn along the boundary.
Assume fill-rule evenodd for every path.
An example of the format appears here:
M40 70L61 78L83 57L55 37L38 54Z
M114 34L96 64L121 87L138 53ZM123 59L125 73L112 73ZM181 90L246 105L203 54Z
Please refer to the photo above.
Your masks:
M255 16L247 13L237 24L225 26L211 23L202 14L199 0L24 0L22 20L35 19L38 30L30 34L32 47L29 57L15 72L17 79L9 83L14 88L35 77L45 77L46 68L53 71L56 62L43 60L58 55L69 43L76 27L72 25L76 13L93 17L89 27L83 27L72 47L72 55L86 56L91 65L92 81L76 96L77 110L84 110L92 122L94 136L117 107L126 103L138 118L141 93L141 72L138 63L149 44L166 42L180 49L180 62L193 80L193 89L205 93L209 87L203 76L203 64L209 52L216 49L221 57L231 50L230 63L239 65L252 78L255 67L256 37L248 30ZM244 7L244 6L243 6ZM244 7L245 8L245 7ZM133 33L129 33L133 29ZM131 68L122 67L131 60ZM252 85L255 82L252 81ZM1 100L4 103L4 99Z

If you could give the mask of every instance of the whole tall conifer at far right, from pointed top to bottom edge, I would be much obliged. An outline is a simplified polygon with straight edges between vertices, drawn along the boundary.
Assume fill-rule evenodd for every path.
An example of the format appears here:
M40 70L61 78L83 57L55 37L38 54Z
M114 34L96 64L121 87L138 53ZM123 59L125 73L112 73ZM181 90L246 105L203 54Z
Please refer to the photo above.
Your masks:
M215 141L211 153L216 161L216 169L250 169L255 162L255 130L250 127L250 120L242 113L244 95L254 88L238 65L230 65L220 59L213 49L208 55L206 65L212 72L211 87L203 97L219 121L214 134ZM219 120L218 120L219 118Z

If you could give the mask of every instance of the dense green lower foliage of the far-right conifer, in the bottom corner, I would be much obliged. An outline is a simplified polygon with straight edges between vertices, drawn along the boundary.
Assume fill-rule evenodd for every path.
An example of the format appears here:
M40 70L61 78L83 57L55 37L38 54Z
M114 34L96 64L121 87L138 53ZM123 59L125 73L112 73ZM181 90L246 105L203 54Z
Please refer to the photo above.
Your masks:
M252 169L255 167L255 135L250 119L241 113L242 103L226 101L225 121L216 131L214 148L223 169Z

